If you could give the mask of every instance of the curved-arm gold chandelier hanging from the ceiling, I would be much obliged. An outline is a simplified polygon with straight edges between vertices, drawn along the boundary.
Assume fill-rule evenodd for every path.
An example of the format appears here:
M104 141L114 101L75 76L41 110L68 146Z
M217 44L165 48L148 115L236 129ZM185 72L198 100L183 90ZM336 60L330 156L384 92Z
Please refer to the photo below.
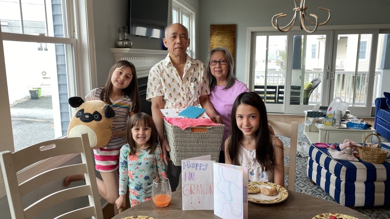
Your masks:
M295 8L293 9L293 11L295 11L295 14L294 14L294 17L293 19L291 19L290 23L288 23L286 26L284 27L279 27L279 18L280 17L285 17L287 16L286 14L284 13L280 13L280 14L275 14L273 17L272 17L272 27L274 27L275 29L278 29L280 32L287 32L289 31L291 28L293 28L293 26L295 25L295 21L297 19L297 16L299 16L300 18L300 21L301 21L301 24L300 24L300 27L301 27L301 30L305 30L306 32L308 33L313 33L314 31L317 30L318 26L321 26L321 25L324 25L326 24L329 19L330 19L330 10L327 9L327 8L321 8L319 7L318 9L320 10L324 10L324 11L327 11L329 13L329 16L328 16L328 19L324 22L324 23L318 23L318 16L315 15L315 14L309 14L310 16L314 17L315 18L315 21L311 21L309 16L307 16L306 14L306 10L307 10L307 7L306 7L306 0L301 0L301 5L300 7L298 7L298 2L297 0L294 0L294 3L295 3ZM299 13L299 15L298 15ZM313 24L315 25L314 26L314 29L313 30L308 30L305 26L305 19L307 19L308 22L310 22L310 24Z

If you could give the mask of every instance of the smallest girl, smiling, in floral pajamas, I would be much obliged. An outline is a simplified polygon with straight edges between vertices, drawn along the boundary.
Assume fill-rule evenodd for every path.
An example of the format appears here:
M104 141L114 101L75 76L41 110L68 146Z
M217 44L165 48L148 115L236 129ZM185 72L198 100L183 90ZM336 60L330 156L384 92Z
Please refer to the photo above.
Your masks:
M119 156L119 198L115 202L118 209L126 205L127 188L132 207L151 198L155 178L167 176L152 117L135 113L127 127L127 144L122 146Z

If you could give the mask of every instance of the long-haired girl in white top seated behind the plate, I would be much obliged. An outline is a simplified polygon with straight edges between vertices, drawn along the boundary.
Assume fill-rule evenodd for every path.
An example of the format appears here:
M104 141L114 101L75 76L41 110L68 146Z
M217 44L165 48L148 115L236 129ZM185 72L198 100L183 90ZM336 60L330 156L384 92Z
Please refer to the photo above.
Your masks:
M225 159L226 164L247 167L250 182L284 187L283 143L270 133L265 104L255 92L241 93L233 104Z

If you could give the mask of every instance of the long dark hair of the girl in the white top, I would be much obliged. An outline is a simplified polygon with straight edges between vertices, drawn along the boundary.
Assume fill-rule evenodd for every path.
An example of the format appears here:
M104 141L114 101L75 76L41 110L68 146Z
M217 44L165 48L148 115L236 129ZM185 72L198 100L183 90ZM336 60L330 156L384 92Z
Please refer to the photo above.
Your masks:
M262 172L272 170L275 163L274 146L272 146L268 129L267 109L259 94L255 92L243 92L237 96L231 110L230 137L228 138L227 155L231 164L241 166L239 162L242 131L237 127L236 112L241 104L250 105L259 110L260 127L256 131L256 161L262 166Z

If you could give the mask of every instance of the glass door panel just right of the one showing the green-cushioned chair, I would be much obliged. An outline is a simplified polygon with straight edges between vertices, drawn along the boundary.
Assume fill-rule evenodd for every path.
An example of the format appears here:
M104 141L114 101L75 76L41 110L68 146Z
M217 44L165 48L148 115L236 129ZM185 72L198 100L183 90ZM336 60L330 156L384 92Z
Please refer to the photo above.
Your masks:
M354 33L356 32L356 33ZM325 78L329 98L340 97L356 115L371 115L378 34L375 31L335 31L332 71Z

